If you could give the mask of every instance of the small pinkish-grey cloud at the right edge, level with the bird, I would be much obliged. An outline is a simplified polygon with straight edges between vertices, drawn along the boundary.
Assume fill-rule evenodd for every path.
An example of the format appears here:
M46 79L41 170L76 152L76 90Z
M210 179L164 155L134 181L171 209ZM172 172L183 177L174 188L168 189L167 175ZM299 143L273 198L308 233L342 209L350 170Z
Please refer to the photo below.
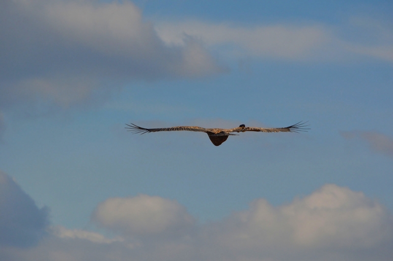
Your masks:
M393 138L375 131L343 131L341 136L346 139L360 138L371 150L388 156L393 156Z

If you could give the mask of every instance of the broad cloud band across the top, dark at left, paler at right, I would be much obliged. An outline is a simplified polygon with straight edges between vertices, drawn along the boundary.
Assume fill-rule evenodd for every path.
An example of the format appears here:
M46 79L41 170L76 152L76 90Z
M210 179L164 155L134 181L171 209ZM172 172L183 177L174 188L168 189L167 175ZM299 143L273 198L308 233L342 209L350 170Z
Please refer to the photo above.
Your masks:
M392 26L364 17L341 26L153 24L130 1L4 0L0 22L0 108L31 100L69 107L133 79L214 75L225 71L217 52L225 59L393 61Z

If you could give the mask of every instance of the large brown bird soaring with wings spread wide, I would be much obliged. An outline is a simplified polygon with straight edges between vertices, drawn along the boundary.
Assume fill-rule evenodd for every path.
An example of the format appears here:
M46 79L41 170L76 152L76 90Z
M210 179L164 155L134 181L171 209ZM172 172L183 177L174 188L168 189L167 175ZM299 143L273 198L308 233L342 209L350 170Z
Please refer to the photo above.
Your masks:
M237 128L233 129L205 129L197 126L179 126L179 127L170 127L170 128L158 128L158 129L146 129L139 127L135 124L130 123L131 125L126 124L129 129L128 131L132 131L135 133L147 133L147 132L157 132L157 131L175 131L175 130L188 130L188 131L199 131L205 132L209 136L211 142L215 146L220 146L228 136L237 135L232 134L232 132L245 132L245 131L262 131L262 132L298 132L298 131L307 131L308 128L305 128L309 125L305 125L307 122L298 122L297 124L285 127L285 128L258 128L258 127L246 127L244 124L240 125Z

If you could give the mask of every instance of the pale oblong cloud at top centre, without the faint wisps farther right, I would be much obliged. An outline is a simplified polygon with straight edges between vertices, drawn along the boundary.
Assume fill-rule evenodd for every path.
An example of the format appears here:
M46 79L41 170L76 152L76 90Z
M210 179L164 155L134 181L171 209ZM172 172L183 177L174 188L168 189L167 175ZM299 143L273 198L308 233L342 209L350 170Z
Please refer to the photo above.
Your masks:
M329 32L322 26L245 27L194 21L159 23L155 28L168 45L183 45L185 36L192 36L235 55L287 59L304 59L329 40Z

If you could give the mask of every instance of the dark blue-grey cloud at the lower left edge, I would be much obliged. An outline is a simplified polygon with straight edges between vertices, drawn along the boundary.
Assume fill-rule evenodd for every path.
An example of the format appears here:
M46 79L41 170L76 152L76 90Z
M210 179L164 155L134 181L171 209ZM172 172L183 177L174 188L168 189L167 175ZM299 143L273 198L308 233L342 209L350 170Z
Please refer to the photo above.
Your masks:
M48 209L34 201L8 175L0 171L0 247L34 245L45 235Z

